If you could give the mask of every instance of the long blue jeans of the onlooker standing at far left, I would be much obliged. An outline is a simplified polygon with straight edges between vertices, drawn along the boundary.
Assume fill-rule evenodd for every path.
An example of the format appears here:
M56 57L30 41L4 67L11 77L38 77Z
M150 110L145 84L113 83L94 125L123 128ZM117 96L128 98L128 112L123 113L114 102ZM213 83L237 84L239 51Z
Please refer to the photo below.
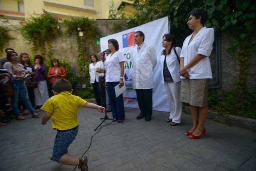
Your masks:
M32 107L30 100L28 98L28 90L23 80L11 81L12 89L14 91L14 95L12 96L12 109L16 116L20 115L20 110L18 108L19 97L26 105L28 111L31 114L35 113L34 108Z

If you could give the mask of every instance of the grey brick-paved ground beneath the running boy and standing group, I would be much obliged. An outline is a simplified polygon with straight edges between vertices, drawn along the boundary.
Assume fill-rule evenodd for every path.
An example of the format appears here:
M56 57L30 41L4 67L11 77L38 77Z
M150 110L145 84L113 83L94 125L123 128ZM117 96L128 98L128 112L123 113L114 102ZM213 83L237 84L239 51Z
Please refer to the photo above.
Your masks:
M189 139L192 118L183 114L182 124L170 126L168 113L154 111L152 121L136 120L138 109L125 108L124 123L105 121L92 138L88 152L90 171L255 171L256 133L206 120L206 134ZM72 171L49 159L56 131L40 118L13 119L0 127L1 171ZM110 117L110 113L108 116ZM78 110L79 132L68 153L80 157L89 147L103 114L95 109ZM98 129L99 130L99 129ZM76 171L79 169L76 168Z

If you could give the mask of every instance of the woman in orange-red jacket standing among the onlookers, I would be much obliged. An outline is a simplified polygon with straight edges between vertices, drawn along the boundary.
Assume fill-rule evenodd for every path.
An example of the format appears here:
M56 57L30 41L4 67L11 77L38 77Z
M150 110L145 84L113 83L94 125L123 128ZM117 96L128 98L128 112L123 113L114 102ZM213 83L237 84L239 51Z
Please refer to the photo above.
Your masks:
M47 77L50 78L51 87L56 80L64 79L66 75L65 68L61 67L59 60L54 58L52 60L52 66L49 68L47 74Z

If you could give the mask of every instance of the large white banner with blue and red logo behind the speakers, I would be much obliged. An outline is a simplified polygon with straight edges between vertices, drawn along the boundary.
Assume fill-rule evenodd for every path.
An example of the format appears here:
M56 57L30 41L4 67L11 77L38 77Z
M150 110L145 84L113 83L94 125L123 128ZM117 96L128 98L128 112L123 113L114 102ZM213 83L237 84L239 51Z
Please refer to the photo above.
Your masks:
M159 61L160 54L164 49L162 47L162 38L164 34L168 34L168 17L160 18L158 20L137 26L116 34L100 38L100 50L103 52L108 49L108 40L116 39L119 44L119 51L124 53L126 61L124 64L124 80L126 84L126 91L123 93L124 106L139 108L137 103L136 92L132 86L132 62L130 60L130 51L136 45L134 43L134 32L142 31L145 35L144 42L153 46L156 50ZM153 87L153 110L170 111L168 98L164 84L161 81L161 67L159 62L153 72L154 87Z

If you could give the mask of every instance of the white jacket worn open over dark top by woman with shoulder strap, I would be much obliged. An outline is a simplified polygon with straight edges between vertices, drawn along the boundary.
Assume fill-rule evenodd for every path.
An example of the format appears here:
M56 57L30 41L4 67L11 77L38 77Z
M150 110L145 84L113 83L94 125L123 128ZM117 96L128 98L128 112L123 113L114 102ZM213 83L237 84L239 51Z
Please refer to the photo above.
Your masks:
M180 47L175 47L176 52L178 56L180 56ZM164 84L164 75L163 75L163 70L164 70L164 55L161 55L159 58L160 66L161 66L161 77L162 77L162 83ZM174 52L174 48L172 48L171 53L166 56L166 65L167 68L172 76L172 80L174 83L180 82L180 63L178 61L178 58Z

